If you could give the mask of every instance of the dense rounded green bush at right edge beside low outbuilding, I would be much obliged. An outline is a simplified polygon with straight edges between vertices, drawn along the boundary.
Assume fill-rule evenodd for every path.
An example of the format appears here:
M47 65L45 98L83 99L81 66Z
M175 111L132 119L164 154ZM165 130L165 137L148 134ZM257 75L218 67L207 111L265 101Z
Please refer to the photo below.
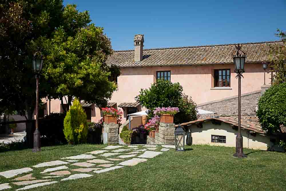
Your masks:
M286 126L286 83L273 85L261 96L258 102L257 117L264 131L282 132Z

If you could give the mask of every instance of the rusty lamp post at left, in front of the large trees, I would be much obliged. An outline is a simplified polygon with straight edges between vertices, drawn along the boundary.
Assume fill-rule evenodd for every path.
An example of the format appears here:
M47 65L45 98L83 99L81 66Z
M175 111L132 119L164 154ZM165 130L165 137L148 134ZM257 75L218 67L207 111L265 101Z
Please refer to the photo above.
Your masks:
M43 55L41 56L36 56L34 54L33 59L32 59L32 65L33 65L33 70L34 73L36 74L36 129L34 132L34 147L32 149L33 153L41 151L41 145L40 145L40 131L38 129L39 126L39 76L40 72L43 68Z

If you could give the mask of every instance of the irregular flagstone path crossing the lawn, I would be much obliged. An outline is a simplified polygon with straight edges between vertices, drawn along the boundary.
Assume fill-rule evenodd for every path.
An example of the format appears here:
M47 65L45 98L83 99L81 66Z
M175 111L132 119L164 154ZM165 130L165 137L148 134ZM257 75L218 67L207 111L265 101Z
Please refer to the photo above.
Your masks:
M124 166L135 166L142 162L152 161L151 159L174 149L174 145L109 145L102 150L91 151L85 154L63 157L62 160L43 162L35 166L20 168L15 170L7 170L0 172L0 176L12 178L20 174L26 174L33 171L33 168L41 168L40 173L44 176L34 178L33 174L21 175L10 179L10 183L1 182L0 190L13 188L13 185L24 186L17 190L28 190L49 184L55 184L59 181L74 180L78 178L88 178L94 176L94 173L100 174L111 170L123 168ZM159 150L162 152L154 151ZM95 159L98 158L98 159ZM92 159L92 160L90 160ZM105 160L104 160L105 159ZM61 165L61 166L60 166ZM52 168L47 168L54 166ZM79 166L80 168L76 168ZM43 168L43 169L42 169ZM71 168L71 169L69 169ZM38 171L37 171L38 173ZM77 173L77 174L75 174ZM87 174L86 174L87 173ZM89 174L88 174L89 173ZM35 173L34 173L35 174ZM51 175L51 176L49 176ZM99 176L99 175L97 175ZM39 177L39 176L35 176ZM43 180L44 179L44 180ZM27 185L27 186L25 186ZM43 190L45 190L43 188Z

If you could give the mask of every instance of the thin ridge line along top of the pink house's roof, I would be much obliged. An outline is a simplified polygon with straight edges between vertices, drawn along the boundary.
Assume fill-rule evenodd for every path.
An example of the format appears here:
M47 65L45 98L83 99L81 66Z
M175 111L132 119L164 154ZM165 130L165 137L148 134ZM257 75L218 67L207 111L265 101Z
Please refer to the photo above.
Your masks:
M239 44L265 44L265 43L277 43L277 42L282 42L281 40L276 40L276 41L261 41L261 42L244 42L244 43L239 43ZM201 47L211 47L211 46L231 46L235 45L237 43L233 44L211 44L211 45L200 45L200 46L178 46L178 47L165 47L165 48L147 48L143 50L166 50L166 49L181 49L181 48L201 48ZM114 52L132 52L132 50L115 50Z

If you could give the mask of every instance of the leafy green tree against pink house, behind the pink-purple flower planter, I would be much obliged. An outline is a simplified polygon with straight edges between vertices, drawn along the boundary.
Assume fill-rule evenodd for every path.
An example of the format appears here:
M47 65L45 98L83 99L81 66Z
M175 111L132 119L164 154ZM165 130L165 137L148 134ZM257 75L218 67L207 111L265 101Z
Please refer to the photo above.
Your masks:
M183 87L179 82L157 80L149 89L141 89L135 99L141 106L148 109L148 117L153 117L153 112L157 107L178 107L179 113L174 115L174 123L197 119L196 103L191 97L183 94Z

